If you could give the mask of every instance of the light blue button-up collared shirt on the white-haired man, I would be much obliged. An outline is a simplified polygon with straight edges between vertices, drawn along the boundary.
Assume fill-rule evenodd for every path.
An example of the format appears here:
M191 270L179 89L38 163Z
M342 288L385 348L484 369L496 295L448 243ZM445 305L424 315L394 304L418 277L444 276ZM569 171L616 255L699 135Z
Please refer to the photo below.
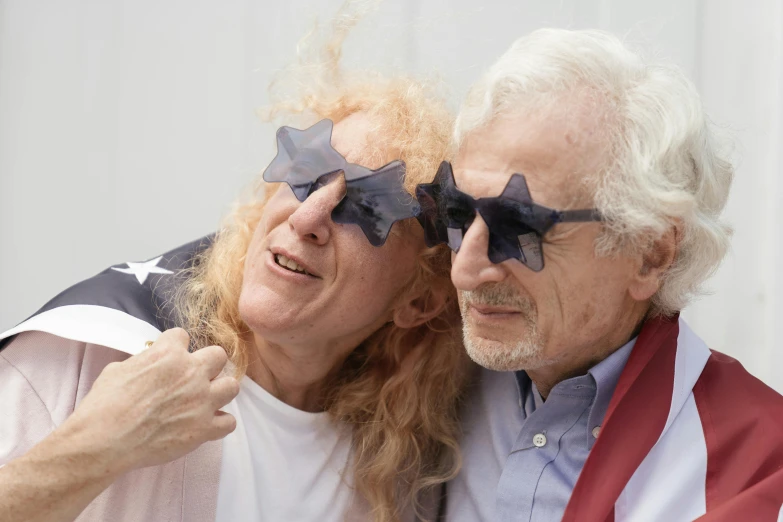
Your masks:
M525 372L483 370L466 408L465 463L448 486L446 520L560 520L635 342L558 383L546 401Z

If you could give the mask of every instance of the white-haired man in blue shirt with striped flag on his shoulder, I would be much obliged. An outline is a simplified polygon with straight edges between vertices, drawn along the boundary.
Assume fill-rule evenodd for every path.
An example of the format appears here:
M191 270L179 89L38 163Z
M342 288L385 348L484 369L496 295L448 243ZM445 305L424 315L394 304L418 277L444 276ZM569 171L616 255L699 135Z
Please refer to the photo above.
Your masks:
M730 235L732 166L692 83L610 35L540 30L455 139L420 201L485 369L446 519L783 520L783 397L678 318Z

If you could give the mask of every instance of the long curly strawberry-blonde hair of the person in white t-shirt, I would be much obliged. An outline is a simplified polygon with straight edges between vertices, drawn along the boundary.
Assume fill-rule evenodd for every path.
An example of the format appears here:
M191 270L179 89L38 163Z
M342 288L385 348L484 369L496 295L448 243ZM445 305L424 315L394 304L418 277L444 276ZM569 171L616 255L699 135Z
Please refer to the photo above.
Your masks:
M322 118L337 123L366 113L377 127L367 140L363 163L379 166L402 159L412 195L416 184L432 180L446 155L452 119L422 82L339 72L342 39L356 19L343 10L332 25L331 40L321 47L318 65L300 62L285 71L287 96L266 116L303 115L311 123ZM190 270L178 298L182 321L195 345L224 347L239 375L246 371L252 350L243 341L248 327L238 307L245 255L273 192L259 197L263 186L259 180L251 200L236 206ZM396 233L414 233L409 227L418 224L408 220L394 227ZM394 323L381 327L351 353L325 387L323 398L325 410L352 427L355 487L378 522L400 520L411 506L421 516L420 499L453 478L460 466L457 414L469 363L449 279L450 254L443 246L425 248L418 261L404 288L423 290L425 296L446 292L443 313L416 328Z

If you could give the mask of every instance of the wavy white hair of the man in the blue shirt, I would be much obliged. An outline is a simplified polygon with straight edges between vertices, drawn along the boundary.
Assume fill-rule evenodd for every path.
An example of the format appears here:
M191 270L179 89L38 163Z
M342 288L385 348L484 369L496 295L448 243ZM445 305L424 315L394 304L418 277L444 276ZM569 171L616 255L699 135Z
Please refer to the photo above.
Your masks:
M606 219L596 251L649 248L679 224L676 259L651 308L670 315L699 294L731 237L720 213L734 169L682 71L646 62L601 31L540 29L515 41L473 86L454 143L496 116L578 99L579 92L601 104L608 140L603 169L584 180Z

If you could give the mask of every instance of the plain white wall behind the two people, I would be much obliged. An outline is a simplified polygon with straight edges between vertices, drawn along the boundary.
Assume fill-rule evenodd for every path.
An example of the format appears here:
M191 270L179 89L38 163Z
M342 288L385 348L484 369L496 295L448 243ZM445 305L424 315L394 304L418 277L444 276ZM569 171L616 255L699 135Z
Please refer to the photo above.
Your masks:
M216 227L271 159L253 113L339 0L0 0L0 331L110 264ZM602 28L679 63L738 140L733 250L685 316L783 392L783 0L387 0L348 65L455 99L516 37Z

